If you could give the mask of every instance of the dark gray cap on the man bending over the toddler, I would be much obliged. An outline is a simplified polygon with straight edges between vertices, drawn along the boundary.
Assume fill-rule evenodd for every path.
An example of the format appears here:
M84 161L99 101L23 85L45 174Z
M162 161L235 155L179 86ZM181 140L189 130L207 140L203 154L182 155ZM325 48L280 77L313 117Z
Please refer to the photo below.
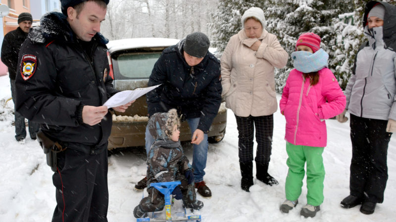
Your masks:
M203 58L209 49L209 45L209 38L203 33L196 32L186 37L183 50L191 56Z

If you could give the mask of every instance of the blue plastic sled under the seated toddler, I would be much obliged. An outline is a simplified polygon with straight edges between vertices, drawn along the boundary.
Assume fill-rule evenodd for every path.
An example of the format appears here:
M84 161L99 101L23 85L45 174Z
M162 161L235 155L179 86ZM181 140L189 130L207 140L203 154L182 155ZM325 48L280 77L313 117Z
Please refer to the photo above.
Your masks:
M146 221L154 221L154 222L179 222L179 221L201 221L201 215L199 214L199 210L193 209L184 209L183 212L171 212L171 206L173 206L173 201L171 201L171 193L173 189L181 184L180 181L176 182L163 182L163 183L151 183L150 186L156 188L162 194L164 194L165 198L165 217L162 211L158 212L149 212L146 218L138 218L136 222L146 222ZM144 193L144 192L143 192Z

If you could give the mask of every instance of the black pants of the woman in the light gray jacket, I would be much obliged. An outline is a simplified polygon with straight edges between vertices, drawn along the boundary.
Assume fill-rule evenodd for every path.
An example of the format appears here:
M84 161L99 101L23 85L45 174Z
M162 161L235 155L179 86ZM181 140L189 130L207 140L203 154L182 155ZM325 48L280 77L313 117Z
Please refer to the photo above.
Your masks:
M350 194L365 201L382 203L388 180L387 152L392 133L387 120L362 118L350 114Z

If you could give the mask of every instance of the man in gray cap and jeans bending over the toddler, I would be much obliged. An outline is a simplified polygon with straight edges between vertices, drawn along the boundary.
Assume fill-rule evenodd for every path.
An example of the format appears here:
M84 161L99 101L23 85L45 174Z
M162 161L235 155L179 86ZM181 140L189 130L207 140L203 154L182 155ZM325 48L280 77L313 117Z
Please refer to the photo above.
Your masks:
M166 48L155 63L148 86L162 84L147 94L148 114L177 109L186 119L193 135L193 167L198 193L210 197L205 185L207 133L221 103L220 62L209 51L209 39L203 33L192 33L178 44ZM146 150L154 139L146 129ZM146 186L146 178L135 187Z

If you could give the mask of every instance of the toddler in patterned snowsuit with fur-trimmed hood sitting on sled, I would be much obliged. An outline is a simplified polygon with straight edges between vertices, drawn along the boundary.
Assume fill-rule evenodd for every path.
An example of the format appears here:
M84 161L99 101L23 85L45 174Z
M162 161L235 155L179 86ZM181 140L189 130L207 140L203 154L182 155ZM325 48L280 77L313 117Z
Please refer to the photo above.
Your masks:
M147 184L180 181L181 185L176 186L172 194L176 199L183 199L183 207L198 210L203 203L196 198L193 168L180 145L179 127L175 109L157 112L148 120L148 129L155 142L148 153ZM154 187L148 187L147 191L148 197L133 211L135 218L164 208L164 195Z

